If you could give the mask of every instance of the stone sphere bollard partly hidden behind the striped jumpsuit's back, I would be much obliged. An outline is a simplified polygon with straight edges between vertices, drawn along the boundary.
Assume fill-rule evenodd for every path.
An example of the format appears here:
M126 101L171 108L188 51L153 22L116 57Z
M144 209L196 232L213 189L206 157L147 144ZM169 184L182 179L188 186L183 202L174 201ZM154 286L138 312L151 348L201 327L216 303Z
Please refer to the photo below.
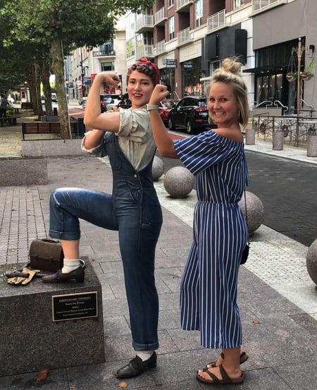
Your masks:
M261 226L264 219L264 207L263 203L253 193L249 193L249 191L245 192L246 199L247 199L247 222L248 222L248 231L251 235L256 231L257 228ZM240 202L238 203L244 218L246 217L245 213L245 201L244 201L244 194L242 195L242 198Z

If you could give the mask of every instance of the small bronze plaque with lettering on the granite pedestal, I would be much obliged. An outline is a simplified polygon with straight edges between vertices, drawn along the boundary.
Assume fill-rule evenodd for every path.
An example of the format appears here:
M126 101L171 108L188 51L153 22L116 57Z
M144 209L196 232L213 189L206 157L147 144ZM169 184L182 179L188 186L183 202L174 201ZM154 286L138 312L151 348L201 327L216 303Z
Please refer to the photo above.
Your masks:
M98 317L97 291L52 295L51 309L53 322Z

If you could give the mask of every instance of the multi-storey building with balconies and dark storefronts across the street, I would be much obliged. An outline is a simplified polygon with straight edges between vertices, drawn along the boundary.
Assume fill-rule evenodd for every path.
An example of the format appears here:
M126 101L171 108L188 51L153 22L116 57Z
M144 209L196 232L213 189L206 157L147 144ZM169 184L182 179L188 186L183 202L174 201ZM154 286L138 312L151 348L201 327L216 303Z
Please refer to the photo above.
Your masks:
M240 56L250 106L280 102L296 112L298 83L286 76L292 63L304 71L314 58L316 16L316 0L159 0L147 13L127 16L127 65L147 56L161 83L183 97L204 95L221 60ZM300 78L299 104L316 109L316 78Z

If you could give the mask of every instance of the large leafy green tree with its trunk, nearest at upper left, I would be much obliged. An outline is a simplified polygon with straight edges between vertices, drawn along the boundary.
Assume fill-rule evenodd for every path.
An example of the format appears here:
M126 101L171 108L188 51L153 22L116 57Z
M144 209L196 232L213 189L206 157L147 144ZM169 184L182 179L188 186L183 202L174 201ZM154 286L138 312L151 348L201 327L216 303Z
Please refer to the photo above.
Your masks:
M1 18L11 20L5 45L18 41L49 48L62 138L71 138L64 56L75 47L92 48L111 39L118 16L127 10L137 13L153 3L153 0L0 0Z

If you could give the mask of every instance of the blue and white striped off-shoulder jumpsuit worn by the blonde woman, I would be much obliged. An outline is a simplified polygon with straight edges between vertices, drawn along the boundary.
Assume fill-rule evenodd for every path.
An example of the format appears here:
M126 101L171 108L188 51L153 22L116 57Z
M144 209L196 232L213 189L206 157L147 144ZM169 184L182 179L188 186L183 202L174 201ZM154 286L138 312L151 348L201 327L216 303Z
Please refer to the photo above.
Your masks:
M198 199L180 289L182 329L200 330L205 348L237 348L242 344L237 279L248 236L237 204L249 184L244 144L209 130L174 145L197 178Z

